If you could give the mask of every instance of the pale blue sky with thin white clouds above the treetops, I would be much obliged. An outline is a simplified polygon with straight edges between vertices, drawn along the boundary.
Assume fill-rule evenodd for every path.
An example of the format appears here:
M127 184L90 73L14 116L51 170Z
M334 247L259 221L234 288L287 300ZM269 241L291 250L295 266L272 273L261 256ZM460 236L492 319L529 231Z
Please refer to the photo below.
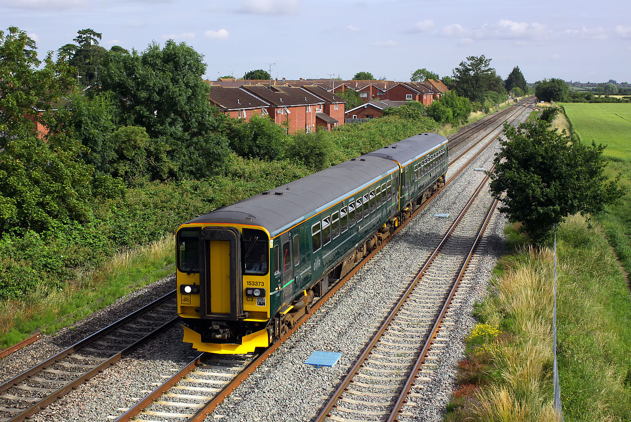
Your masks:
M278 78L404 81L485 54L503 78L631 82L629 16L628 0L0 0L0 30L27 31L40 58L92 28L108 49L186 42L209 79L275 63Z

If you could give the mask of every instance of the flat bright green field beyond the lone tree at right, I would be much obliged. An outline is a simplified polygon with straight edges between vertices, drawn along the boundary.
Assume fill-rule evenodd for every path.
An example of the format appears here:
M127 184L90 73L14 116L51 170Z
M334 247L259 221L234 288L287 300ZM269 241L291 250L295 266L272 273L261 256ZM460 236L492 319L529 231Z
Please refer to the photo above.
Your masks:
M631 103L563 103L582 142L605 144L605 155L631 158Z

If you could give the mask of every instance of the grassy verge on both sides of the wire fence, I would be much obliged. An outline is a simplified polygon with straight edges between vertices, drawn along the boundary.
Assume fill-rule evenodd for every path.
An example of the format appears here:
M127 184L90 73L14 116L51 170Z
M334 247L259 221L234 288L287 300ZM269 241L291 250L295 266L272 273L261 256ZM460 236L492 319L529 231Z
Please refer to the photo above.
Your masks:
M509 228L509 238L519 239ZM565 421L631 420L631 296L601 230L573 216L558 232L558 368ZM445 421L553 421L550 248L517 246L459 364ZM483 327L497 334L476 335ZM487 329L487 332L489 330ZM491 333L493 334L493 333Z

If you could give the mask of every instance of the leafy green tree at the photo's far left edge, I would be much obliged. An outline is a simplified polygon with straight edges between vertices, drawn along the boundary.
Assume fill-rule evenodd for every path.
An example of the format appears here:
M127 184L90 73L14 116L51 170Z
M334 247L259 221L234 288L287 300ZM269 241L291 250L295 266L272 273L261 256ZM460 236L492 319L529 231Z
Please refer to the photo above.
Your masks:
M26 32L0 31L0 233L89 217L92 169L77 160L80 143L56 130L59 98L73 83L71 67L52 52L37 59ZM45 139L34 122L50 128Z

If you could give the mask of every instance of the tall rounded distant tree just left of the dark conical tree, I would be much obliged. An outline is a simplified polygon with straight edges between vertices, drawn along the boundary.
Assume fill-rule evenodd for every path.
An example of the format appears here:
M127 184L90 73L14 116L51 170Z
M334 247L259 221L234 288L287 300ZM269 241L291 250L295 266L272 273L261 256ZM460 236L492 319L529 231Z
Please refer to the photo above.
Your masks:
M490 82L495 79L495 69L490 66L491 59L484 55L469 56L454 69L455 90L461 97L471 101L484 102L484 93Z

